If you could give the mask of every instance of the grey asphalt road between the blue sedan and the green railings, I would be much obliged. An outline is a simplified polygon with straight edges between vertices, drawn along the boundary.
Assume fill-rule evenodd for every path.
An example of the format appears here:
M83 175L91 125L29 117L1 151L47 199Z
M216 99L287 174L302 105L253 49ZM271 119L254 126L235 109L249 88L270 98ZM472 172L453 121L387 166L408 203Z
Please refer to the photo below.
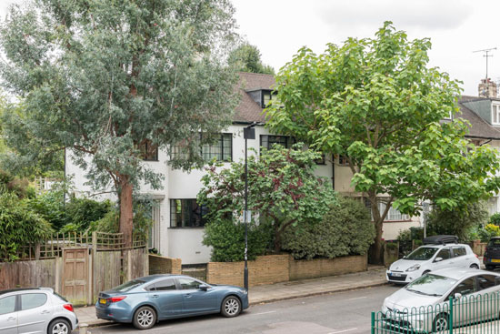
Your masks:
M255 305L233 319L210 315L165 320L144 331L128 324L90 331L92 334L366 334L370 332L370 312L379 310L385 297L397 289L382 286Z

